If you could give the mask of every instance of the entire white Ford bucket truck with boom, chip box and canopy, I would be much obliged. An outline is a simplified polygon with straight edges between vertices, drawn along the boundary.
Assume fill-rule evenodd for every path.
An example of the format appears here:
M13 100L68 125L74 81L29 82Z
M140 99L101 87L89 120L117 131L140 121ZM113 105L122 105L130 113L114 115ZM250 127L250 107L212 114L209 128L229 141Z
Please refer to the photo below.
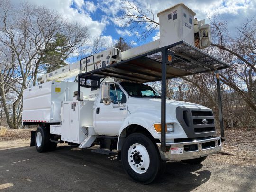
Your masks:
M23 125L40 125L31 146L45 152L65 141L115 150L139 183L152 182L167 160L200 163L221 151L211 109L165 97L168 78L229 67L194 46L195 37L203 47L211 40L210 26L194 26L194 15L183 4L165 9L158 13L159 40L124 52L111 48L38 78L23 98ZM76 75L78 82L61 81ZM154 81L162 81L162 94L145 84Z

